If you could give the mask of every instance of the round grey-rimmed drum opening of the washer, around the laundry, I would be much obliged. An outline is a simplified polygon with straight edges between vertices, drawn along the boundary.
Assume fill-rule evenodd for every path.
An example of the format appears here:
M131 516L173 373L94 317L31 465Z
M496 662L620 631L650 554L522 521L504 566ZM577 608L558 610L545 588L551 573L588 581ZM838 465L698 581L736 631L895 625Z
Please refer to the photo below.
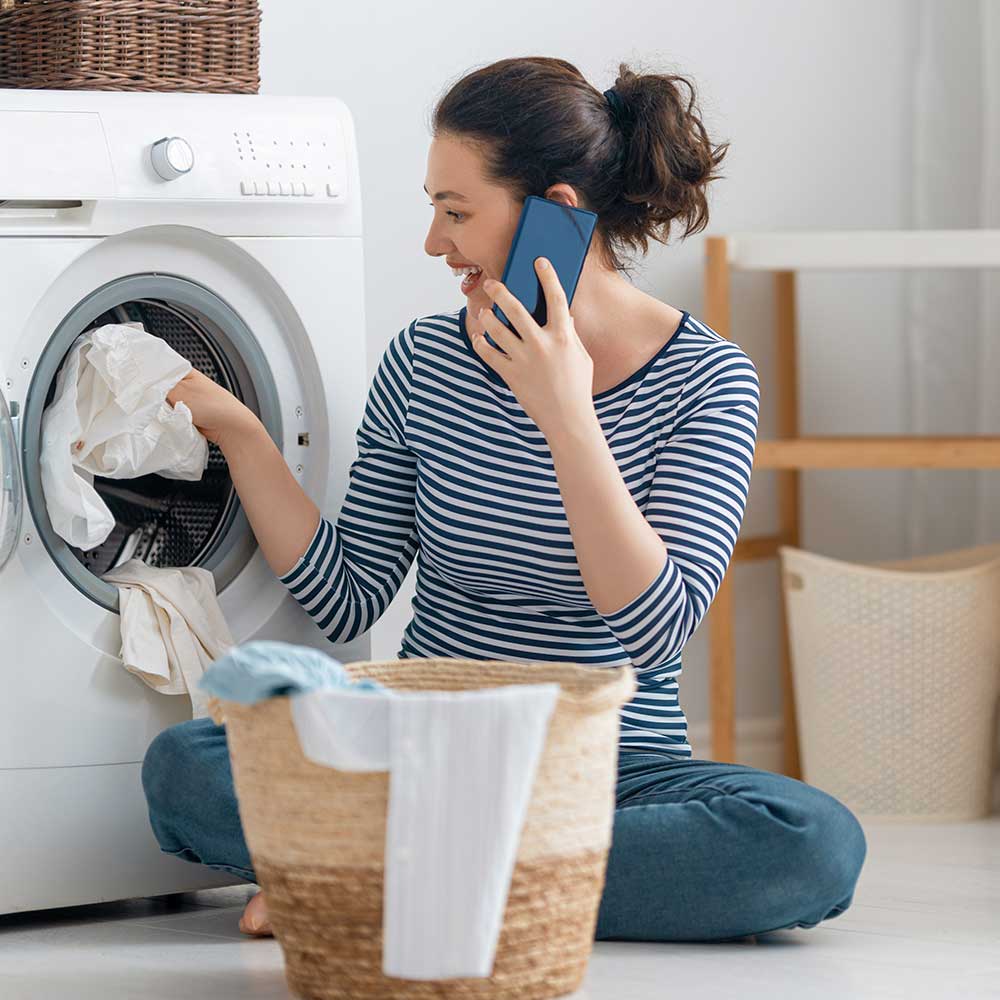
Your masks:
M25 495L39 537L66 578L86 597L117 610L117 588L103 575L127 559L148 566L200 566L223 590L256 550L225 457L209 445L200 479L160 475L129 480L95 477L94 489L114 518L108 538L82 551L52 527L45 506L39 456L42 412L53 401L58 374L76 339L106 323L138 323L217 384L232 392L281 439L277 390L253 334L217 294L190 279L139 274L108 282L79 302L43 349L25 401L21 440Z

